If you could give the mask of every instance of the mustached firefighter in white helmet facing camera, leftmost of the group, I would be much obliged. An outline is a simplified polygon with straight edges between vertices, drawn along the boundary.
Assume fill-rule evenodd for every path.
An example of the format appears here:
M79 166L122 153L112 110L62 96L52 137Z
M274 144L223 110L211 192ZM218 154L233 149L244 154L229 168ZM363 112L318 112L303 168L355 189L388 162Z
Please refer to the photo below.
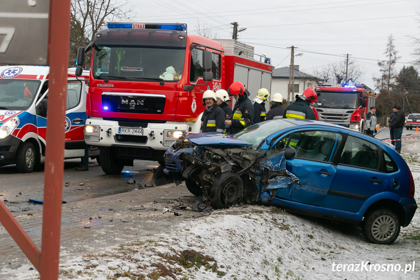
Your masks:
M216 93L207 90L203 93L202 100L203 106L207 107L204 109L203 115L201 116L200 132L223 132L225 129L225 113L219 105L216 104Z

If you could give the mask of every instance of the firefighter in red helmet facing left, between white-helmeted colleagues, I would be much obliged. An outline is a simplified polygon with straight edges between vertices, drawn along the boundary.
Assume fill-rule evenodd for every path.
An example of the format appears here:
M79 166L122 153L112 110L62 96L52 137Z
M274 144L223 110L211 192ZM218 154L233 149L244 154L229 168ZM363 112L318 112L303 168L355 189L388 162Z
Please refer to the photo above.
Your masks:
M227 92L235 98L236 103L232 120L226 120L224 124L231 127L232 133L236 133L253 124L254 106L248 98L250 93L241 82L233 82Z

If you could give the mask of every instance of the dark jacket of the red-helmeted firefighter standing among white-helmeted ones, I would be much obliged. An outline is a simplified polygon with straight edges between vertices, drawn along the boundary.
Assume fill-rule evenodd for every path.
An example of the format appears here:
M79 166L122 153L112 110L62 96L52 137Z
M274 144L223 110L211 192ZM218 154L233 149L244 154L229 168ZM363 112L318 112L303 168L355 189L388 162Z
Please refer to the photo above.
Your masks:
M239 132L247 126L250 126L253 124L253 120L254 106L248 96L241 95L235 104L235 109L233 110L231 127L232 133Z

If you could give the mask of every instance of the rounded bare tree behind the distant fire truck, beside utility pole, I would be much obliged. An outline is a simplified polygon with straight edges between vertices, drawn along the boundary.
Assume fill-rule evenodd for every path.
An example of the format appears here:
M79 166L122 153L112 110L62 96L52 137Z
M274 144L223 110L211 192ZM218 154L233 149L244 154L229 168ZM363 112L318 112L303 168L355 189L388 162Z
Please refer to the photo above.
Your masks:
M323 66L321 69L315 70L312 75L323 78L322 82L347 84L349 81L356 83L364 74L365 70L360 65L357 65L354 59L347 60L347 58L345 58L343 61L329 64Z

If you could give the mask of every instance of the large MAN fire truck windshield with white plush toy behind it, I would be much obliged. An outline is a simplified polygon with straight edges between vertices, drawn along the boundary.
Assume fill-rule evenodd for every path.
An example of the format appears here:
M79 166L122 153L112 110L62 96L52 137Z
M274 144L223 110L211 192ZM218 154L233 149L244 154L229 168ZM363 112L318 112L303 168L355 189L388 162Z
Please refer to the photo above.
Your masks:
M182 78L185 48L97 45L95 79L177 82Z

